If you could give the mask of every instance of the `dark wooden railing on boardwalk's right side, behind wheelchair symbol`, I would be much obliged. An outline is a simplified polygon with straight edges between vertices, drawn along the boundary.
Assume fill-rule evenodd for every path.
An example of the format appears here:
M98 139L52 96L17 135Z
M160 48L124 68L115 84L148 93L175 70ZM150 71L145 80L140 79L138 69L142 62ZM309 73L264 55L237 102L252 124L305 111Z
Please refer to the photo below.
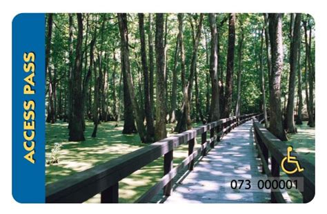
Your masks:
M253 120L253 127L255 129L255 141L257 142L257 149L259 151L259 158L262 162L262 173L266 173L269 180L279 180L280 176L280 163L287 156L286 142L282 142L276 138L273 133L270 133L263 125L258 122L262 119L262 116L257 116L257 119ZM308 162L308 160L302 158L295 151L292 152L292 156L295 156L304 171L297 171L293 174L286 174L290 180L298 180L303 182L301 189L301 195L303 196L303 202L307 203L313 200L315 196L315 165ZM295 166L292 164L286 164L287 169L292 169ZM285 203L281 191L277 189L271 190L271 202Z

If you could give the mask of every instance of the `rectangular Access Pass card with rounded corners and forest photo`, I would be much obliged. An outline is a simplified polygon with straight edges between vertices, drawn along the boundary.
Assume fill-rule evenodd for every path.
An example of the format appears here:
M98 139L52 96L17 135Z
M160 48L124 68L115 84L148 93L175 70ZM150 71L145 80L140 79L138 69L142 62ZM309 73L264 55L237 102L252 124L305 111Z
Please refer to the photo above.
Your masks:
M18 14L21 203L307 203L309 14Z

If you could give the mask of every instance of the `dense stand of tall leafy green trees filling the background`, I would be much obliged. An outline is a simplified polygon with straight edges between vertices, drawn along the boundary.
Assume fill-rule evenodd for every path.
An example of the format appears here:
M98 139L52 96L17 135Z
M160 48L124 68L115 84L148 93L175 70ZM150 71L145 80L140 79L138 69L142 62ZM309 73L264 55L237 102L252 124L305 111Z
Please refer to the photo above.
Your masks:
M315 125L310 15L303 24L295 14L291 21L290 14L156 15L47 14L47 121L69 122L69 139L83 140L90 126L97 137L115 120L116 130L141 132L143 142L155 141L156 124L159 140L166 122L177 121L181 132L192 122L261 111L282 139L292 108L296 124L308 111Z

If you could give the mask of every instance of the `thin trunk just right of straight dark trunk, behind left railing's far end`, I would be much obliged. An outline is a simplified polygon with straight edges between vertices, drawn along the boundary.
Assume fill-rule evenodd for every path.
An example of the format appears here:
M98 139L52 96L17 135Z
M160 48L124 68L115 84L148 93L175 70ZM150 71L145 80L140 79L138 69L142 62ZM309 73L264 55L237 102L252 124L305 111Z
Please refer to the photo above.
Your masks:
M239 67L237 71L237 100L236 100L236 109L235 109L235 116L240 116L241 115L241 72L242 72L242 48L243 48L243 41L244 41L244 32L242 28L242 23L241 23L241 36L239 37L239 42L238 42L238 50L237 50L237 56L239 60Z

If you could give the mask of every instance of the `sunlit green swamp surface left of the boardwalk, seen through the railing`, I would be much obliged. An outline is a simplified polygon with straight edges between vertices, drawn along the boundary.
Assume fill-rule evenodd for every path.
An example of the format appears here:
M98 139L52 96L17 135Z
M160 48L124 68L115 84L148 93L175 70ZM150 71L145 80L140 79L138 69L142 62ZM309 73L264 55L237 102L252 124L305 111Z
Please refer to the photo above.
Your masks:
M101 122L98 126L97 138L91 138L93 123L86 122L86 131L84 142L68 142L68 124L66 122L57 122L55 124L46 124L46 156L50 155L55 142L59 142L62 147L59 154L59 163L46 165L46 183L56 182L67 175L84 171L102 164L114 158L118 158L126 153L130 153L146 144L142 144L138 134L123 135L123 122L115 127L116 122ZM172 127L176 124L168 124L168 136ZM197 125L195 124L194 127ZM201 142L201 136L197 142ZM200 147L195 143L195 148ZM188 156L188 145L181 145L174 150L174 167L176 167L184 158ZM139 171L132 173L119 182L119 202L134 202L143 193L148 191L164 175L164 158L161 157L154 162L143 167ZM87 203L99 203L100 195L95 195Z

